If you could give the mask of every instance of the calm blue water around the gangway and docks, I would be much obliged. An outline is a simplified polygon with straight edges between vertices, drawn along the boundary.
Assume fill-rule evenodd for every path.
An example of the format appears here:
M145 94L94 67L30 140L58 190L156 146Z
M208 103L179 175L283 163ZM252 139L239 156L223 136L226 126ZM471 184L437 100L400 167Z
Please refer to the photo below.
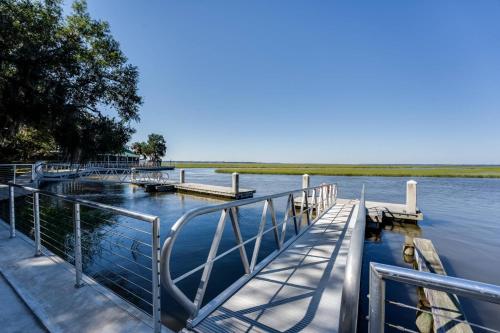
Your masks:
M177 179L177 172L170 172ZM186 181L207 184L230 185L231 176L217 174L211 169L188 169ZM314 176L311 185L334 182L339 187L339 197L357 198L362 184L366 186L366 199L385 202L404 202L405 184L408 178L392 177L327 177ZM366 328L368 293L368 263L378 261L399 266L411 267L402 254L405 235L429 238L437 248L449 275L479 280L500 285L500 180L499 179L456 179L456 178L416 178L418 181L418 205L424 212L424 220L419 227L387 227L381 232L368 232L365 242L363 276L361 290L360 330ZM257 190L257 196L277 193L301 186L301 176L278 175L241 175L240 187ZM132 210L157 215L161 218L162 240L173 223L186 211L220 201L180 194L146 194L142 188L128 185L84 185L71 188L63 184L48 184L49 189L59 192L72 192L83 198L105 202ZM76 191L76 192L75 192ZM283 203L277 203L278 208ZM257 228L257 218L262 206L249 207L242 212L243 236L251 237ZM279 209L278 209L279 210ZM278 214L278 217L281 215ZM173 258L173 276L176 277L196 267L206 258L218 215L200 218L185 229L178 239ZM194 221L193 221L194 222ZM392 229L392 230L389 230ZM221 247L232 246L233 239L225 236ZM251 245L251 244L250 244ZM270 239L264 242L262 255L273 250ZM248 248L250 251L250 246ZM96 254L98 256L100 254ZM242 274L239 257L229 256L217 263L212 275L212 284L207 291L207 299L217 295L220 290ZM97 269L97 268L94 268ZM199 276L197 277L199 279ZM182 290L193 295L197 287L196 277L180 284ZM388 284L388 298L416 304L415 290L400 285ZM466 315L471 322L487 324L500 329L500 308L486 303L472 303L462 300ZM164 322L178 327L183 313L172 306L171 300L164 296L164 309L168 314ZM413 325L415 312L388 307L387 321Z

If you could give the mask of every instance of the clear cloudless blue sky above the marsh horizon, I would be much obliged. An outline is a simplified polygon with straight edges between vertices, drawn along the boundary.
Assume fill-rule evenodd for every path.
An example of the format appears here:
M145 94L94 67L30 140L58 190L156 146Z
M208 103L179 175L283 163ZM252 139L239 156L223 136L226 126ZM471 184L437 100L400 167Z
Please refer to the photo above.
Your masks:
M89 0L166 159L500 163L500 1Z

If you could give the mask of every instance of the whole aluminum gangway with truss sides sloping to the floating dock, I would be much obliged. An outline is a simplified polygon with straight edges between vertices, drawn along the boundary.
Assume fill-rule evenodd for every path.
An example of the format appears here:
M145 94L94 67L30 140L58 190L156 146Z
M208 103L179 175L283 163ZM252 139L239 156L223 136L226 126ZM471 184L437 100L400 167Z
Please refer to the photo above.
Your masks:
M189 313L186 330L354 332L366 223L364 189L362 192L360 200L342 200L337 198L335 185L325 184L186 213L172 227L161 259L162 286ZM286 199L282 221L276 218L275 209L280 198ZM258 204L263 205L258 232L244 240L239 212ZM178 235L196 217L217 212L220 218L206 262L173 278L170 258ZM266 223L269 215L270 225ZM236 246L219 254L227 221ZM259 261L267 233L274 235L276 250ZM253 247L251 253L247 253L249 247ZM204 302L215 262L232 252L239 253L244 275ZM178 284L200 273L192 300Z

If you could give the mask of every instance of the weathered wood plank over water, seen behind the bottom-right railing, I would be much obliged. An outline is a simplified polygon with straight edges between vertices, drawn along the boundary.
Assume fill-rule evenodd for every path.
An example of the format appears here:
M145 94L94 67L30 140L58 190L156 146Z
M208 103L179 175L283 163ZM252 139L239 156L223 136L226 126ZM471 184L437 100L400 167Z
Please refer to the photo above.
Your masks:
M447 275L443 263L439 259L439 255L430 240L415 238L413 243L415 244L415 259L420 271ZM465 315L462 312L456 295L427 288L424 288L424 293L431 306L434 319L433 331L435 333L472 332L468 324L451 319L465 320Z

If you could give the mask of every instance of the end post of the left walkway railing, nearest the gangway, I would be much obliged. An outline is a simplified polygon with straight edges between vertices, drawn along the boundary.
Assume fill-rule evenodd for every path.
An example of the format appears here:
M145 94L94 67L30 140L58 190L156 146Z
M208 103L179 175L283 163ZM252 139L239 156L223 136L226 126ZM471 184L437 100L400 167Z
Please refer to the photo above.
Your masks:
M160 295L160 218L153 222L152 234L152 301L153 301L153 328L155 333L161 332L161 295Z

